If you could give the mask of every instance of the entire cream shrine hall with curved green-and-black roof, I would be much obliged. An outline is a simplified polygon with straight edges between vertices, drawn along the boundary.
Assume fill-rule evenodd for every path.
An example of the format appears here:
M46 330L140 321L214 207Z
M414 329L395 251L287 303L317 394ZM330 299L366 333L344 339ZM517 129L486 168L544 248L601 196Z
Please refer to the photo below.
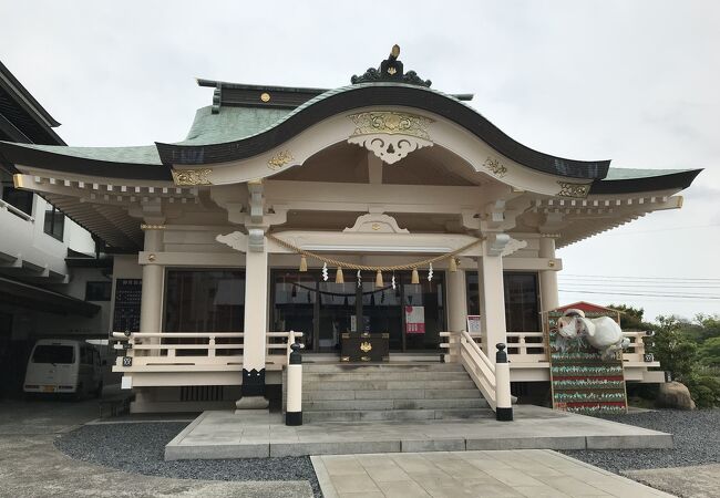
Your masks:
M368 333L381 361L443 354L481 391L506 343L517 388L547 382L556 249L680 208L699 173L534 151L397 55L333 90L199 80L212 105L173 144L0 144L17 188L116 252L134 411L277 396L295 332L306 362L362 363L343 343ZM636 336L625 378L649 366Z

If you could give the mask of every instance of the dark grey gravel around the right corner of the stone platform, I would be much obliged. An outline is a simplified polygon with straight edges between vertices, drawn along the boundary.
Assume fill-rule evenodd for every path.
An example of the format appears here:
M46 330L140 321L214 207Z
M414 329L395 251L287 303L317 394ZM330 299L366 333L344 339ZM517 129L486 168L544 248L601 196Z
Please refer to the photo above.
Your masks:
M623 470L720 463L720 409L660 409L603 417L675 435L672 449L566 450L565 455L619 474Z

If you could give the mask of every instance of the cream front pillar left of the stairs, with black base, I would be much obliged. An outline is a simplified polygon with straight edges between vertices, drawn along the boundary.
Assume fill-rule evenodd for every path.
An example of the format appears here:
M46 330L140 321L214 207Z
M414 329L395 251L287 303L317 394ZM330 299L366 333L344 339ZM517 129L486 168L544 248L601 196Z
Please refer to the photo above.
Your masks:
M265 232L248 229L245 253L245 335L243 339L243 396L238 409L267 408L265 355L267 351L268 255Z

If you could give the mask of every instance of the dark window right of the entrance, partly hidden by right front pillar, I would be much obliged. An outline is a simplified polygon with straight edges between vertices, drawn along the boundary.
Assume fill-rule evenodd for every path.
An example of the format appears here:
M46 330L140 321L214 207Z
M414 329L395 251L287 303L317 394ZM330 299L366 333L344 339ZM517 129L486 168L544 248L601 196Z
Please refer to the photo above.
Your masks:
M477 272L467 271L467 314L480 314ZM508 332L539 332L539 292L536 272L506 271L503 274L505 323Z

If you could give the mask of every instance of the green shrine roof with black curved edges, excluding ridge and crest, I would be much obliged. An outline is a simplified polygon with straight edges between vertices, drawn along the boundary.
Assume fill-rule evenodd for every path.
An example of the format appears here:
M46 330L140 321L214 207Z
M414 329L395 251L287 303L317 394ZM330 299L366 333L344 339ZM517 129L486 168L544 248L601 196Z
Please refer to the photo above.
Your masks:
M583 162L539 153L514 141L453 95L403 83L362 83L327 91L292 111L213 106L197 110L184 141L133 147L68 147L0 142L0 162L58 172L137 180L172 181L173 165L237 160L261 154L337 114L373 105L432 112L469 129L528 168L592 179L590 195L687 188L701 169L620 169L609 160Z

